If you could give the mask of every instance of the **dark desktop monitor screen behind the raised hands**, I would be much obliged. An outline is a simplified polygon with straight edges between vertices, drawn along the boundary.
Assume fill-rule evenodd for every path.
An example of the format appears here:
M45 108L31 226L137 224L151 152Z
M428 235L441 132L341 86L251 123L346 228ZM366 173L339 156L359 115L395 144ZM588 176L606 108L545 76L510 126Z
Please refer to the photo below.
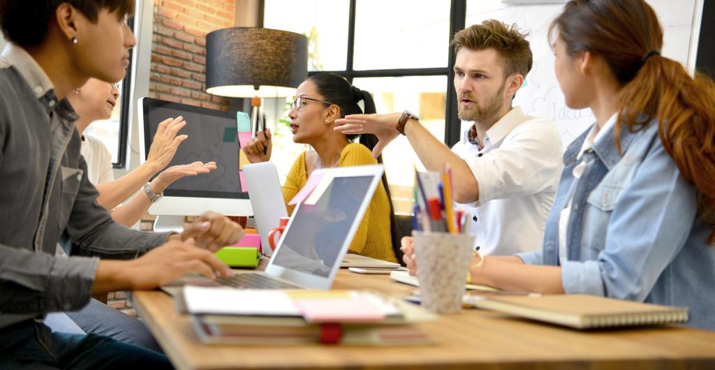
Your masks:
M187 176L164 190L164 196L248 199L239 178L239 149L236 114L151 98L142 99L144 160L149 155L159 123L167 118L184 117L187 122L179 134L189 137L179 145L169 166L194 161L215 161L209 174ZM167 166L167 167L169 167Z

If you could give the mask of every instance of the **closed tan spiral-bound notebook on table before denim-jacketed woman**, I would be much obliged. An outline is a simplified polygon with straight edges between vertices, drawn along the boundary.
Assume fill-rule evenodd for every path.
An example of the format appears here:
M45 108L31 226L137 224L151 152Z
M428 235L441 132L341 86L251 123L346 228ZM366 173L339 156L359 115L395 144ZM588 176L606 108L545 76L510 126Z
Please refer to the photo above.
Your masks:
M687 307L644 304L585 294L489 296L473 304L479 309L576 329L681 324L688 321Z

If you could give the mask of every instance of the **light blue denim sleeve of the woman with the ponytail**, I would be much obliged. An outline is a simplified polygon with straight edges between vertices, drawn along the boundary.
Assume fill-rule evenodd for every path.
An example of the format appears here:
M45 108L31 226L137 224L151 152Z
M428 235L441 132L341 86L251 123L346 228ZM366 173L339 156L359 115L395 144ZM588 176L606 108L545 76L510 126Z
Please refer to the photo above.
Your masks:
M620 194L597 259L561 266L564 291L643 301L683 248L696 211L695 189L655 145Z

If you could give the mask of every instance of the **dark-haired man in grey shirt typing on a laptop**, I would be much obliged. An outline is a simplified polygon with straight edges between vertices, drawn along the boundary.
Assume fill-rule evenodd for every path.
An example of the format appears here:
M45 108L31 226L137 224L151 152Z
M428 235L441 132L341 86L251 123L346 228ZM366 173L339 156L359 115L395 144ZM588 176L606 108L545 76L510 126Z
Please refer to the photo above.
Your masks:
M142 233L95 201L66 96L92 77L124 77L133 8L131 0L0 1L9 41L0 56L2 369L171 369L166 356L106 336L52 333L44 315L188 272L232 274L211 253L243 234L226 217L207 212L182 234ZM69 257L55 256L60 239L76 246Z

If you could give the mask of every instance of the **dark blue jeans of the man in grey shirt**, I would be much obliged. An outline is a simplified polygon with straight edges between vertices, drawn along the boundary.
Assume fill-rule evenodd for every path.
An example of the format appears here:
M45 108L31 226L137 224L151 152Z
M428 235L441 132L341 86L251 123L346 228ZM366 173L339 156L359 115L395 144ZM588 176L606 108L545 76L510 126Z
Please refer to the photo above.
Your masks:
M0 369L173 369L163 354L26 320L0 331Z

